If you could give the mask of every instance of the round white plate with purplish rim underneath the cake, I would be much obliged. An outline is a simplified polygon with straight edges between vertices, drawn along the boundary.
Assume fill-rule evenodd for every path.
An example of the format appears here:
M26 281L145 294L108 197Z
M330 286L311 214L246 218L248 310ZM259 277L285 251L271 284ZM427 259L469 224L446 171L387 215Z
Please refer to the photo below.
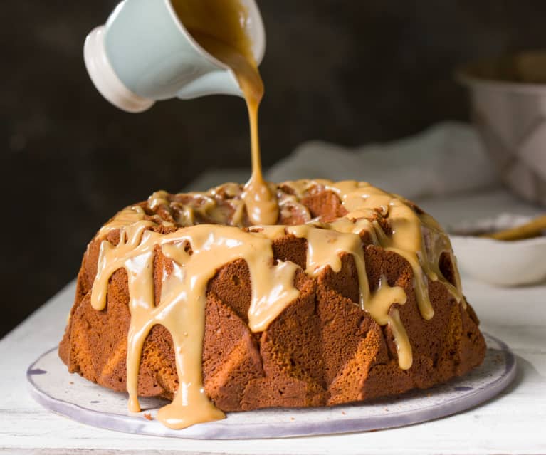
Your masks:
M43 407L78 422L119 432L191 439L262 439L362 432L426 422L476 406L495 397L515 377L515 357L503 342L485 334L483 364L463 377L431 389L369 403L300 409L229 412L218 422L182 430L164 427L154 417L161 399L140 399L143 412L127 411L127 394L112 392L70 375L49 350L28 367L29 390ZM147 420L149 413L152 420Z

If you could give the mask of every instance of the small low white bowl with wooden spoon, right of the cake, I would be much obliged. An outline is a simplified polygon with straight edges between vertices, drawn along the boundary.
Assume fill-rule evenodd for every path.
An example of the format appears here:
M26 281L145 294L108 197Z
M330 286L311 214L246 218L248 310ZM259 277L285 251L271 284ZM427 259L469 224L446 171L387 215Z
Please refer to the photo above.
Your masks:
M463 273L497 286L521 286L546 280L546 236L517 241L466 235L509 229L531 221L527 216L501 214L494 219L462 223L448 231Z

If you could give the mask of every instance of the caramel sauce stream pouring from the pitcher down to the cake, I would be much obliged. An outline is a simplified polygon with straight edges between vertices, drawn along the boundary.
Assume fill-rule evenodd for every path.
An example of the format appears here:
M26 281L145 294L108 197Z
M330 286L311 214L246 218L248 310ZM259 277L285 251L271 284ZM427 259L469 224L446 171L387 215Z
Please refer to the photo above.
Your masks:
M246 34L248 11L238 0L172 0L174 11L199 45L235 74L246 100L251 130L252 176L243 200L251 224L275 224L275 192L263 179L258 137L258 108L263 81Z

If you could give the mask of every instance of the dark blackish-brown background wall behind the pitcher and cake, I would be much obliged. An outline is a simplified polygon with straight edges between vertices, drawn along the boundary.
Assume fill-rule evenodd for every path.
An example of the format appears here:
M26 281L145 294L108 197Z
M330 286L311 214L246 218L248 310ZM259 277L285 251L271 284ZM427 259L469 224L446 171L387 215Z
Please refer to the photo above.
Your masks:
M266 167L304 140L357 145L466 120L455 66L546 47L543 0L258 3L268 33ZM238 98L172 100L130 115L100 97L82 45L115 4L2 1L0 336L75 276L117 209L153 189L176 191L207 167L249 164Z

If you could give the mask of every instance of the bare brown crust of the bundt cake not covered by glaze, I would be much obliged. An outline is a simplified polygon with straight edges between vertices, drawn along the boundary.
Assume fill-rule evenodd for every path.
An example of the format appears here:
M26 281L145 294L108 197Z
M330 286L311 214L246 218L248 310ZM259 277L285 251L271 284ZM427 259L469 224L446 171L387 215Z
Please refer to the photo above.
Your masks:
M344 214L331 192L317 192L302 203L325 221ZM144 204L142 204L144 206ZM149 214L152 215L152 214ZM387 225L383 226L388 229ZM164 226L153 229L174 230ZM117 236L117 237L116 237ZM78 275L75 303L59 355L70 372L104 387L126 390L127 332L130 327L127 273L113 273L104 310L90 305L100 241L90 242ZM119 231L108 234L113 244ZM367 242L364 240L364 244ZM276 260L305 268L306 240L283 236L273 241ZM206 294L203 376L206 394L224 411L263 407L308 407L354 402L431 387L463 375L483 361L485 341L470 305L463 305L439 282L429 285L434 317L419 312L409 263L392 251L364 246L370 286L382 276L404 289L407 301L394 304L413 350L413 365L401 370L389 325L380 326L358 305L359 287L352 256L342 254L342 268L325 268L317 278L303 271L295 277L300 296L261 333L248 328L251 302L246 262L233 261L217 271ZM161 293L161 273L170 260L156 251L154 296ZM450 280L453 264L442 257ZM374 284L375 283L375 284ZM172 398L178 387L172 339L155 325L142 350L138 394Z

